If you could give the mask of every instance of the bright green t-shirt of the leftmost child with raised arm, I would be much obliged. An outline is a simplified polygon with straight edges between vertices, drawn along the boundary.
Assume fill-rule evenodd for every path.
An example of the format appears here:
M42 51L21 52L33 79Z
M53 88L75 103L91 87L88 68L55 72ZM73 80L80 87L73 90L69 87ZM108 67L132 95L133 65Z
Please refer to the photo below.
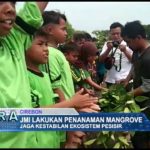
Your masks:
M41 12L35 2L27 2L19 16L32 27L42 24ZM0 37L0 107L31 108L30 87L24 58L31 37L19 26ZM0 148L27 148L36 144L34 132L0 132Z

